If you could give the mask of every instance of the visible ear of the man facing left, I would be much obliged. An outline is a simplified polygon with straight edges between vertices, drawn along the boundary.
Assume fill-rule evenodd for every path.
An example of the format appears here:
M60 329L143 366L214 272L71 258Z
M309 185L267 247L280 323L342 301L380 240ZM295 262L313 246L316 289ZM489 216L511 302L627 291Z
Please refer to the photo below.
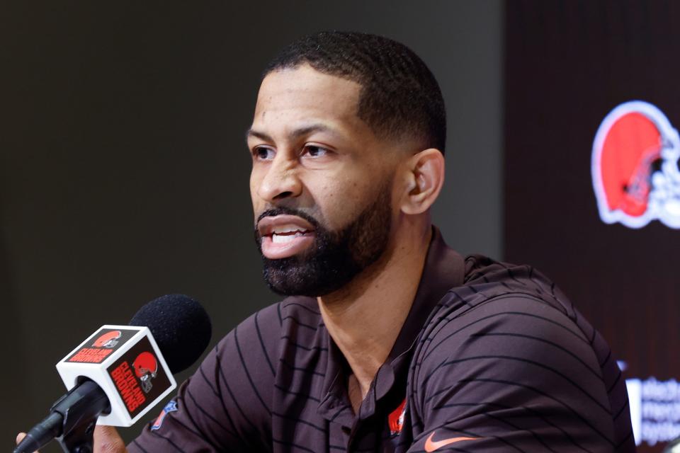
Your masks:
M444 156L434 148L411 157L404 168L406 185L402 193L404 214L421 214L437 199L444 183Z

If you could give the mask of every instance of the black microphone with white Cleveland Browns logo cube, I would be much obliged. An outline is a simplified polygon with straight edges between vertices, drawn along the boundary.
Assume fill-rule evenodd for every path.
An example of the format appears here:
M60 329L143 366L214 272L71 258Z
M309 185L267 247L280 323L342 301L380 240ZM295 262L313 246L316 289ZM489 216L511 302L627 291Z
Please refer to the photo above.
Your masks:
M57 363L69 392L16 446L33 453L56 438L64 452L92 451L95 422L130 426L175 389L210 343L203 306L183 294L152 300L129 326L105 325Z

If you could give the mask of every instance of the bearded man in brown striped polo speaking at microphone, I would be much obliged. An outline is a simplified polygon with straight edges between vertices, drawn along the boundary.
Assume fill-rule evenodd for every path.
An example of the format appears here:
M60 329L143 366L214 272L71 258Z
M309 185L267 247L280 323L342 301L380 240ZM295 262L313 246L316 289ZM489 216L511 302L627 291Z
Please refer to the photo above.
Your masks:
M633 452L621 372L528 266L432 226L438 85L409 49L317 33L266 69L248 131L264 276L131 452ZM113 429L99 451L121 451Z

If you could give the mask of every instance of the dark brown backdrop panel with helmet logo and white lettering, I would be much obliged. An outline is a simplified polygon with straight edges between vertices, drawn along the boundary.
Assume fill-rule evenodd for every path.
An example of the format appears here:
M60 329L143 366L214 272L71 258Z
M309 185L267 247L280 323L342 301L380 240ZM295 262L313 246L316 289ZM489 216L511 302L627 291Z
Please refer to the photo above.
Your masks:
M506 10L506 258L607 338L640 452L680 435L679 17L674 1Z

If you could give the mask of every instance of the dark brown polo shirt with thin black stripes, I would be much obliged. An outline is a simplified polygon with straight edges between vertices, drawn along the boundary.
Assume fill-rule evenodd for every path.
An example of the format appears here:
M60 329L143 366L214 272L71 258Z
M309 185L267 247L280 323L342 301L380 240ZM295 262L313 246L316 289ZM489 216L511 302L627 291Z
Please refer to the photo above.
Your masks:
M385 311L390 301L382 301ZM435 229L416 297L354 413L315 299L234 328L131 452L634 452L605 340L530 266Z

